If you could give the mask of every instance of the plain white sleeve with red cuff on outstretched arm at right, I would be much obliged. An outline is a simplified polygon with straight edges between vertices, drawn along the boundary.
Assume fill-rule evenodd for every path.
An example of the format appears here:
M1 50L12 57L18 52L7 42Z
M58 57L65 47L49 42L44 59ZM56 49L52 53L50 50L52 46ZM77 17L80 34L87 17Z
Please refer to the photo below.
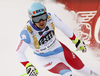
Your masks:
M61 21L56 15L52 14L52 19L59 30L61 30L69 39L74 40L76 38L75 34L73 33L72 29L68 27L63 21Z

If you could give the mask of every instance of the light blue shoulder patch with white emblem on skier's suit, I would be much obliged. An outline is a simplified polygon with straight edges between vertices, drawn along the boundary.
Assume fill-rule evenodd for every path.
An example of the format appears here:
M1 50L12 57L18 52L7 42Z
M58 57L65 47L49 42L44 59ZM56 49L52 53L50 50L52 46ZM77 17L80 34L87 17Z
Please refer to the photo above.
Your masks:
M27 44L29 44L31 42L31 39L30 39L30 35L28 33L28 31L26 29L23 29L20 33L20 37L21 39L26 42Z

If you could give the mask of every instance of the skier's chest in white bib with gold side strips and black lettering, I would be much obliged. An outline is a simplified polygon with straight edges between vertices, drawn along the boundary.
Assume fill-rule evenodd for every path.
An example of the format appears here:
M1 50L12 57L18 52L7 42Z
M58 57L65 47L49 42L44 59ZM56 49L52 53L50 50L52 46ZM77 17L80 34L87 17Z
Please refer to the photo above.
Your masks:
M47 23L41 31L37 31L30 26L27 27L27 30L30 32L31 43L36 49L46 47L55 40L55 27L53 22Z

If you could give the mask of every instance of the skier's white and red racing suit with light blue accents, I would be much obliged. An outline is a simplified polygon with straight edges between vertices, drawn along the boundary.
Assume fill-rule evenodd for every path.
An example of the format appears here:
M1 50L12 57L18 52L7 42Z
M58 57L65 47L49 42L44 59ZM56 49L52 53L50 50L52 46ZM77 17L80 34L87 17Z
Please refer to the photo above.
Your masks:
M20 40L16 50L18 60L25 66L29 61L25 50L30 46L36 60L50 72L64 75L71 68L80 70L84 64L67 46L57 40L55 27L61 30L68 38L76 38L73 31L56 15L48 13L44 29L39 29L30 20L20 33ZM73 75L74 76L74 75Z

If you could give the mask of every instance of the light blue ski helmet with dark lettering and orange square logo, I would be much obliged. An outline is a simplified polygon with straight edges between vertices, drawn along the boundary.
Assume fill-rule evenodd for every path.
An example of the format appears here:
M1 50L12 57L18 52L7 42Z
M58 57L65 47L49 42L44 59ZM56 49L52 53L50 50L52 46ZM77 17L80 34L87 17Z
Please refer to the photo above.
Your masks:
M45 12L47 12L46 8L40 2L33 3L28 9L28 14L29 14L30 18L32 18L34 16L41 15L41 14L43 14Z

